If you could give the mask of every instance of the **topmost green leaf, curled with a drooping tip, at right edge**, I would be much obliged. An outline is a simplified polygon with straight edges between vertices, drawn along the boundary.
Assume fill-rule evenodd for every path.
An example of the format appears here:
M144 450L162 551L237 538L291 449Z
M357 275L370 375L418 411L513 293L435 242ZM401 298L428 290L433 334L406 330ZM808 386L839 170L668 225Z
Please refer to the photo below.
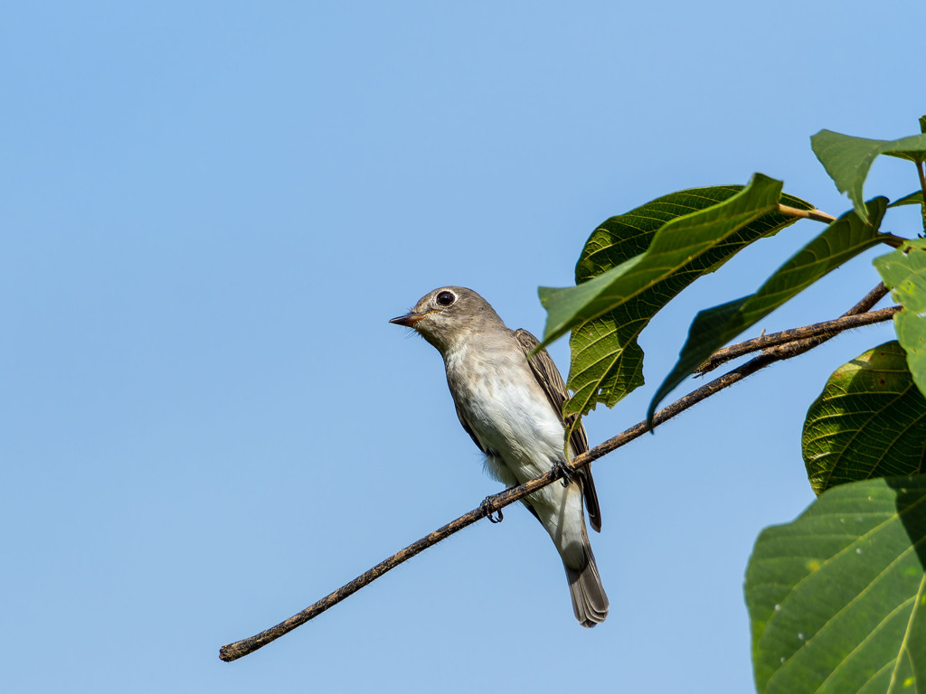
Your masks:
M926 135L911 135L899 140L868 140L832 130L820 130L810 138L810 146L835 182L836 188L848 194L858 216L866 221L868 217L862 188L875 157L890 155L915 162L926 157Z

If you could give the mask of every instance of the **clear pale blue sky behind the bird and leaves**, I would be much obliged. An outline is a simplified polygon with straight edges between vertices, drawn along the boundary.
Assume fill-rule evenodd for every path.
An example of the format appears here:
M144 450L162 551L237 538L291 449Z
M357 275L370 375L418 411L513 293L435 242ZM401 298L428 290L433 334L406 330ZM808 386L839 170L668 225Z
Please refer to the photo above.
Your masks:
M0 689L753 689L743 576L813 495L807 406L867 328L594 465L611 599L577 626L523 509L262 651L276 624L499 487L440 357L387 323L480 291L540 333L595 225L754 171L840 214L821 128L918 132L922 5L35 2L0 11ZM916 188L876 163L867 192ZM914 235L917 212L887 229ZM755 291L804 222L653 321L644 416L698 309ZM759 328L838 316L867 254ZM566 341L554 357L565 371ZM696 384L687 383L677 394Z

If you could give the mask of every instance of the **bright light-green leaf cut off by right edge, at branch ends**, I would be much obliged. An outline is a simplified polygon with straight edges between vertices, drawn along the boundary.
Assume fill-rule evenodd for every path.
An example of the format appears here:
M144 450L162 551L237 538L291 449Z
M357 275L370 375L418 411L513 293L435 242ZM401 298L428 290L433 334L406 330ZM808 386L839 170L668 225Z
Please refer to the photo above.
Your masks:
M874 266L904 307L894 316L894 328L907 350L913 381L926 393L926 239L904 242L894 253L875 258Z

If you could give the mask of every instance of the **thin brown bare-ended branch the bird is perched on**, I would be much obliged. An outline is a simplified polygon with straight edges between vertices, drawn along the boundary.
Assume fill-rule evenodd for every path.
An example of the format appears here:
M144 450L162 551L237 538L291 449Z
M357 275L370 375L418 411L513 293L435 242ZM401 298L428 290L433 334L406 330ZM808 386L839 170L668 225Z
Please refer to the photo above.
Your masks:
M875 290L877 289L878 288L875 288ZM872 293L873 291L870 292L870 294L866 296L865 299L856 304L856 306L853 306L852 309L849 309L849 311L854 311L858 306L863 305L867 300L869 300ZM734 368L732 371L724 374L720 378L715 378L700 388L693 390L674 403L671 403L659 410L653 417L654 427L668 421L675 415L679 415L692 405L700 403L702 400L705 400L711 395L720 392L720 390L732 386L734 383L737 383L747 376L756 373L764 366L769 366L774 362L781 361L782 359L788 359L792 356L795 356L797 353L800 353L791 353L788 351L776 353L776 350L782 350L782 348L788 348L795 344L802 344L802 352L804 352L807 351L807 349L811 349L811 347L816 346L807 346L807 343L815 339L820 340L820 338L814 338L811 340L789 342L767 352L761 353L757 357L750 359L743 366ZM619 449L621 446L630 443L632 440L640 438L648 430L649 428L646 426L645 420L639 422L633 425L631 428L628 428L619 433L617 436L608 439L603 443L599 443L593 449L586 451L581 455L577 455L571 460L569 465L573 469L579 469L585 467L586 465L591 465L595 460L598 460L598 458L607 455L607 453L613 452ZM306 624L306 622L310 619L317 617L320 613L325 612L330 607L336 605L338 602L343 601L345 598L353 595L357 592L357 590L369 585L374 580L386 572L394 569L399 564L407 562L421 551L427 550L429 547L432 547L432 545L435 545L441 540L450 537L457 531L462 530L464 527L471 526L473 523L482 520L482 518L486 517L487 515L494 514L495 512L505 508L507 505L517 502L528 494L531 494L532 492L540 490L546 485L553 483L557 480L558 477L562 477L564 474L567 474L565 467L565 465L561 467L555 467L545 475L532 479L531 481L526 482L519 487L514 487L505 490L500 494L487 497L479 507L473 509L468 514L461 515L456 520L451 521L443 527L439 527L431 534L419 539L417 542L413 542L412 544L408 545L405 549L395 552L388 559L385 559L379 564L376 564L373 566L373 568L364 572L360 576L357 576L357 578L350 581L349 583L344 584L344 586L335 590L329 595L326 595L316 603L309 605L302 612L294 614L286 621L281 622L277 626L271 626L269 629L262 631L251 638L244 638L243 640L223 645L219 649L219 658L226 662L238 660L248 653L257 651L257 649L266 646L270 641L282 637L284 634L292 631L297 626Z

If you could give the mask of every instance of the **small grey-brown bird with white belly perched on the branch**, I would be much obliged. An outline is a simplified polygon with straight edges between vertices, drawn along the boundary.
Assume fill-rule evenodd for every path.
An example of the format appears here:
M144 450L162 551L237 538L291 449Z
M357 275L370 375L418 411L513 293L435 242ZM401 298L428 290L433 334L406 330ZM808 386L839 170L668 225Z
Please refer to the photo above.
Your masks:
M444 357L460 424L485 453L493 477L515 487L563 463L566 384L545 350L529 356L539 344L530 332L508 329L482 296L464 287L436 289L389 322L414 328ZM587 450L580 425L569 437L569 455ZM607 617L607 595L585 530L583 497L592 527L601 530L590 467L521 502L557 546L576 619L595 626Z

